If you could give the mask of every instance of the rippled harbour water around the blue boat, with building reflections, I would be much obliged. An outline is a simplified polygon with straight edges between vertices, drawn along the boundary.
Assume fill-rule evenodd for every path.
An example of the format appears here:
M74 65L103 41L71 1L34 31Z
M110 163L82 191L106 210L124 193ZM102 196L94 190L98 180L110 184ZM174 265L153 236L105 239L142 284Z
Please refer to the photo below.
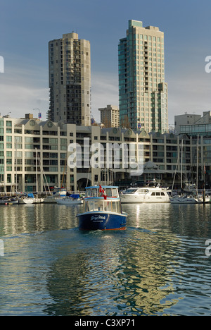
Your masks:
M126 231L82 206L0 207L0 315L211 315L211 205L124 204Z

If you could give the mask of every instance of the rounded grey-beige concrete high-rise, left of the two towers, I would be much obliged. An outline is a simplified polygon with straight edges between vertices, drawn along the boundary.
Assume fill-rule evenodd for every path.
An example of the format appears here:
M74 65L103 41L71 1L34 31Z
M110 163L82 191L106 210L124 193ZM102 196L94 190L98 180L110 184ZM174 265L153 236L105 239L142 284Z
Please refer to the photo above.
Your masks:
M49 42L49 120L90 125L90 42L77 33Z

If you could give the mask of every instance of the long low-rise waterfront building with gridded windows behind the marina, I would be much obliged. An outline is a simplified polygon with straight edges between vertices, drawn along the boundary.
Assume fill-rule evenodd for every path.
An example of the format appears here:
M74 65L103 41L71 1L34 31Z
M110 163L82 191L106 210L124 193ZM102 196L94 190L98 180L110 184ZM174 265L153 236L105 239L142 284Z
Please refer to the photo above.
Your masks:
M153 179L172 185L176 170L183 173L183 178L190 178L191 173L192 178L196 178L197 152L198 176L203 181L205 169L206 181L210 182L211 138L200 135L199 145L197 140L190 135L40 121L32 115L0 117L0 191L42 192L60 185L70 191L82 191L87 184L113 182L124 187L131 182ZM72 144L75 144L77 164L71 167ZM97 147L101 144L103 153L91 149L94 144ZM129 151L133 147L132 157L136 162L139 161L139 147L143 147L145 171L141 176L131 176L129 167L124 166L122 149L119 157L115 150L106 153L107 146L113 148L115 144L125 144ZM115 166L117 159L119 166ZM149 161L155 164L155 171L149 169Z

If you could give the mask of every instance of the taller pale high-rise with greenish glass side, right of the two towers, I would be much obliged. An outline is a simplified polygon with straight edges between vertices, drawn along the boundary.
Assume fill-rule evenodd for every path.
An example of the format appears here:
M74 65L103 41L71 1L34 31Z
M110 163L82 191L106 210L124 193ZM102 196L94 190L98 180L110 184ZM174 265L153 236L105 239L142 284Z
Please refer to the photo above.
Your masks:
M120 126L166 133L164 33L129 20L127 36L120 39L118 61Z

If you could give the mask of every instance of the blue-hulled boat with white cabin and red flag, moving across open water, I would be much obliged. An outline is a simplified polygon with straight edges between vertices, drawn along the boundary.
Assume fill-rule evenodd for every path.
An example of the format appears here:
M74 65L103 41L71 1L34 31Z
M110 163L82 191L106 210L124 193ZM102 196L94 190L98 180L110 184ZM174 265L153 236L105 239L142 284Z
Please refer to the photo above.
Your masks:
M95 185L86 188L84 212L77 214L79 229L124 230L127 213L122 212L118 187Z

